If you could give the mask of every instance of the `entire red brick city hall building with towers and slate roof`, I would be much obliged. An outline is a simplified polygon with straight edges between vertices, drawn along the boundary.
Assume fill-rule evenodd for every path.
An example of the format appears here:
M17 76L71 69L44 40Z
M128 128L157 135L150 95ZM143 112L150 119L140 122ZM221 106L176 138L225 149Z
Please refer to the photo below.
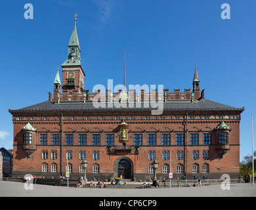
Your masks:
M197 69L192 89L84 89L76 22L48 100L11 110L13 177L32 174L77 179L87 160L87 179L240 177L240 119L244 108L207 100ZM91 78L93 79L93 78ZM154 102L153 102L154 101Z

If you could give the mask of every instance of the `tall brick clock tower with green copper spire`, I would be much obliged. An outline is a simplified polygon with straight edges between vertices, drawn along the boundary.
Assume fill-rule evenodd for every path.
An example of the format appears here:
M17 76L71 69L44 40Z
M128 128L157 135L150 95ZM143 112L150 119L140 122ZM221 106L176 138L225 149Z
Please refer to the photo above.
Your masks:
M60 100L79 100L84 92L85 73L81 66L80 46L75 26L68 43L68 58L62 64L62 96Z

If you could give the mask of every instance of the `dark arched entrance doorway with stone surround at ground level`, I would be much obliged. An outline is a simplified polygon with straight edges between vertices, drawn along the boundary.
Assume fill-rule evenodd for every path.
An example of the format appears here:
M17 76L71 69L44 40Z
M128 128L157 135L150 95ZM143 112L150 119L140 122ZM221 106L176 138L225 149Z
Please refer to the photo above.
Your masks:
M133 161L129 158L117 158L114 163L114 177L133 179Z

